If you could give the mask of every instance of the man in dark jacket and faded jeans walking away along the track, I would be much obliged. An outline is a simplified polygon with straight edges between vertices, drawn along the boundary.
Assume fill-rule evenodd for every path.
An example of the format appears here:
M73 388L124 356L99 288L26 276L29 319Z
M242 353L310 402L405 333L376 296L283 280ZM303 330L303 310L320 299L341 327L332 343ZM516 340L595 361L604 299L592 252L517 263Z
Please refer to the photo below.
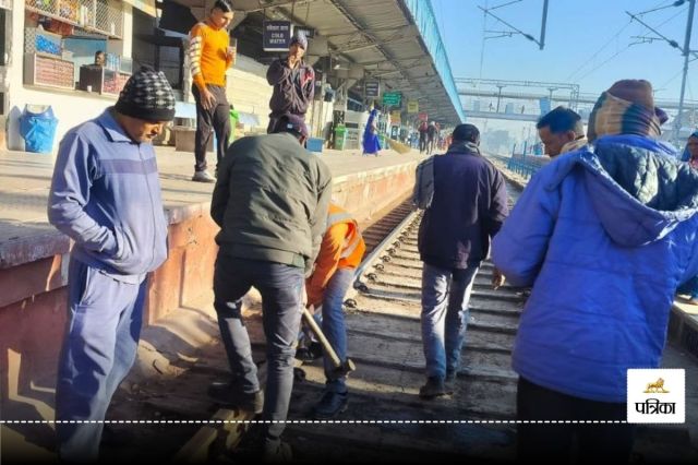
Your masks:
M480 155L478 128L460 124L453 139L446 155L429 158L418 168L418 184L433 177L431 202L419 230L428 377L420 389L423 398L444 395L445 382L456 378L472 283L488 258L490 238L508 214L504 178ZM496 271L495 281L500 281Z

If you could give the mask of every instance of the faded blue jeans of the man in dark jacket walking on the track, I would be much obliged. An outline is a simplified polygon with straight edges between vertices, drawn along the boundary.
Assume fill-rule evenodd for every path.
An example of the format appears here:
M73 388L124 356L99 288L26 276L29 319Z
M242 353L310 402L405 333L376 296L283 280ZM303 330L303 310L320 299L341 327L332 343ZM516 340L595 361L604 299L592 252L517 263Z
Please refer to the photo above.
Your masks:
M424 263L422 271L422 344L426 375L444 379L460 368L468 327L470 293L478 266L445 270Z

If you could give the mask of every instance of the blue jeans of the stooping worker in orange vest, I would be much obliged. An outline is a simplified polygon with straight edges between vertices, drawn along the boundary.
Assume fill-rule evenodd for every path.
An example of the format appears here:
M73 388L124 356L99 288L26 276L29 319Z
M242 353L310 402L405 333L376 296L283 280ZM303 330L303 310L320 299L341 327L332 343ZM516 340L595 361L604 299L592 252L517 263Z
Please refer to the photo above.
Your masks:
M329 278L329 283L323 293L323 333L329 345L337 353L339 360L347 359L347 327L345 326L345 311L342 303L351 283L353 282L353 269L337 270ZM327 391L347 392L347 377L329 381L329 373L334 367L332 360L325 354L325 377L327 378Z

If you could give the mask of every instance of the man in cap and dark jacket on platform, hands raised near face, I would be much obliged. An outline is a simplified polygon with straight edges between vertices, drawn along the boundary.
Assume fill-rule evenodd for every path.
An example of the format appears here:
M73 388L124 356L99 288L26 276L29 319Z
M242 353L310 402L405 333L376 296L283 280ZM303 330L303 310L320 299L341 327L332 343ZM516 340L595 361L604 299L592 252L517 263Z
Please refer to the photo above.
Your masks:
M296 115L305 118L305 112L315 95L315 71L303 61L308 49L305 35L298 32L291 39L288 57L278 59L269 65L266 80L274 86L269 100L268 133L274 132L282 115Z

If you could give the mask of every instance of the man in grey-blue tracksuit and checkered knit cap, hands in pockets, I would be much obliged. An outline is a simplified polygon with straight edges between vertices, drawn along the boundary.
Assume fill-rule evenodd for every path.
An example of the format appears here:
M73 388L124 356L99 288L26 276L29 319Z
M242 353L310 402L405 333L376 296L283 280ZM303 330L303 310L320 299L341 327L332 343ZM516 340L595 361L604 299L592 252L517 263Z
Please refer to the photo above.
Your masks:
M60 143L48 218L74 246L56 419L80 421L56 425L58 453L65 462L97 460L104 427L98 421L135 361L147 274L167 259L167 222L151 142L173 117L170 84L161 72L144 67L115 107L72 129Z

